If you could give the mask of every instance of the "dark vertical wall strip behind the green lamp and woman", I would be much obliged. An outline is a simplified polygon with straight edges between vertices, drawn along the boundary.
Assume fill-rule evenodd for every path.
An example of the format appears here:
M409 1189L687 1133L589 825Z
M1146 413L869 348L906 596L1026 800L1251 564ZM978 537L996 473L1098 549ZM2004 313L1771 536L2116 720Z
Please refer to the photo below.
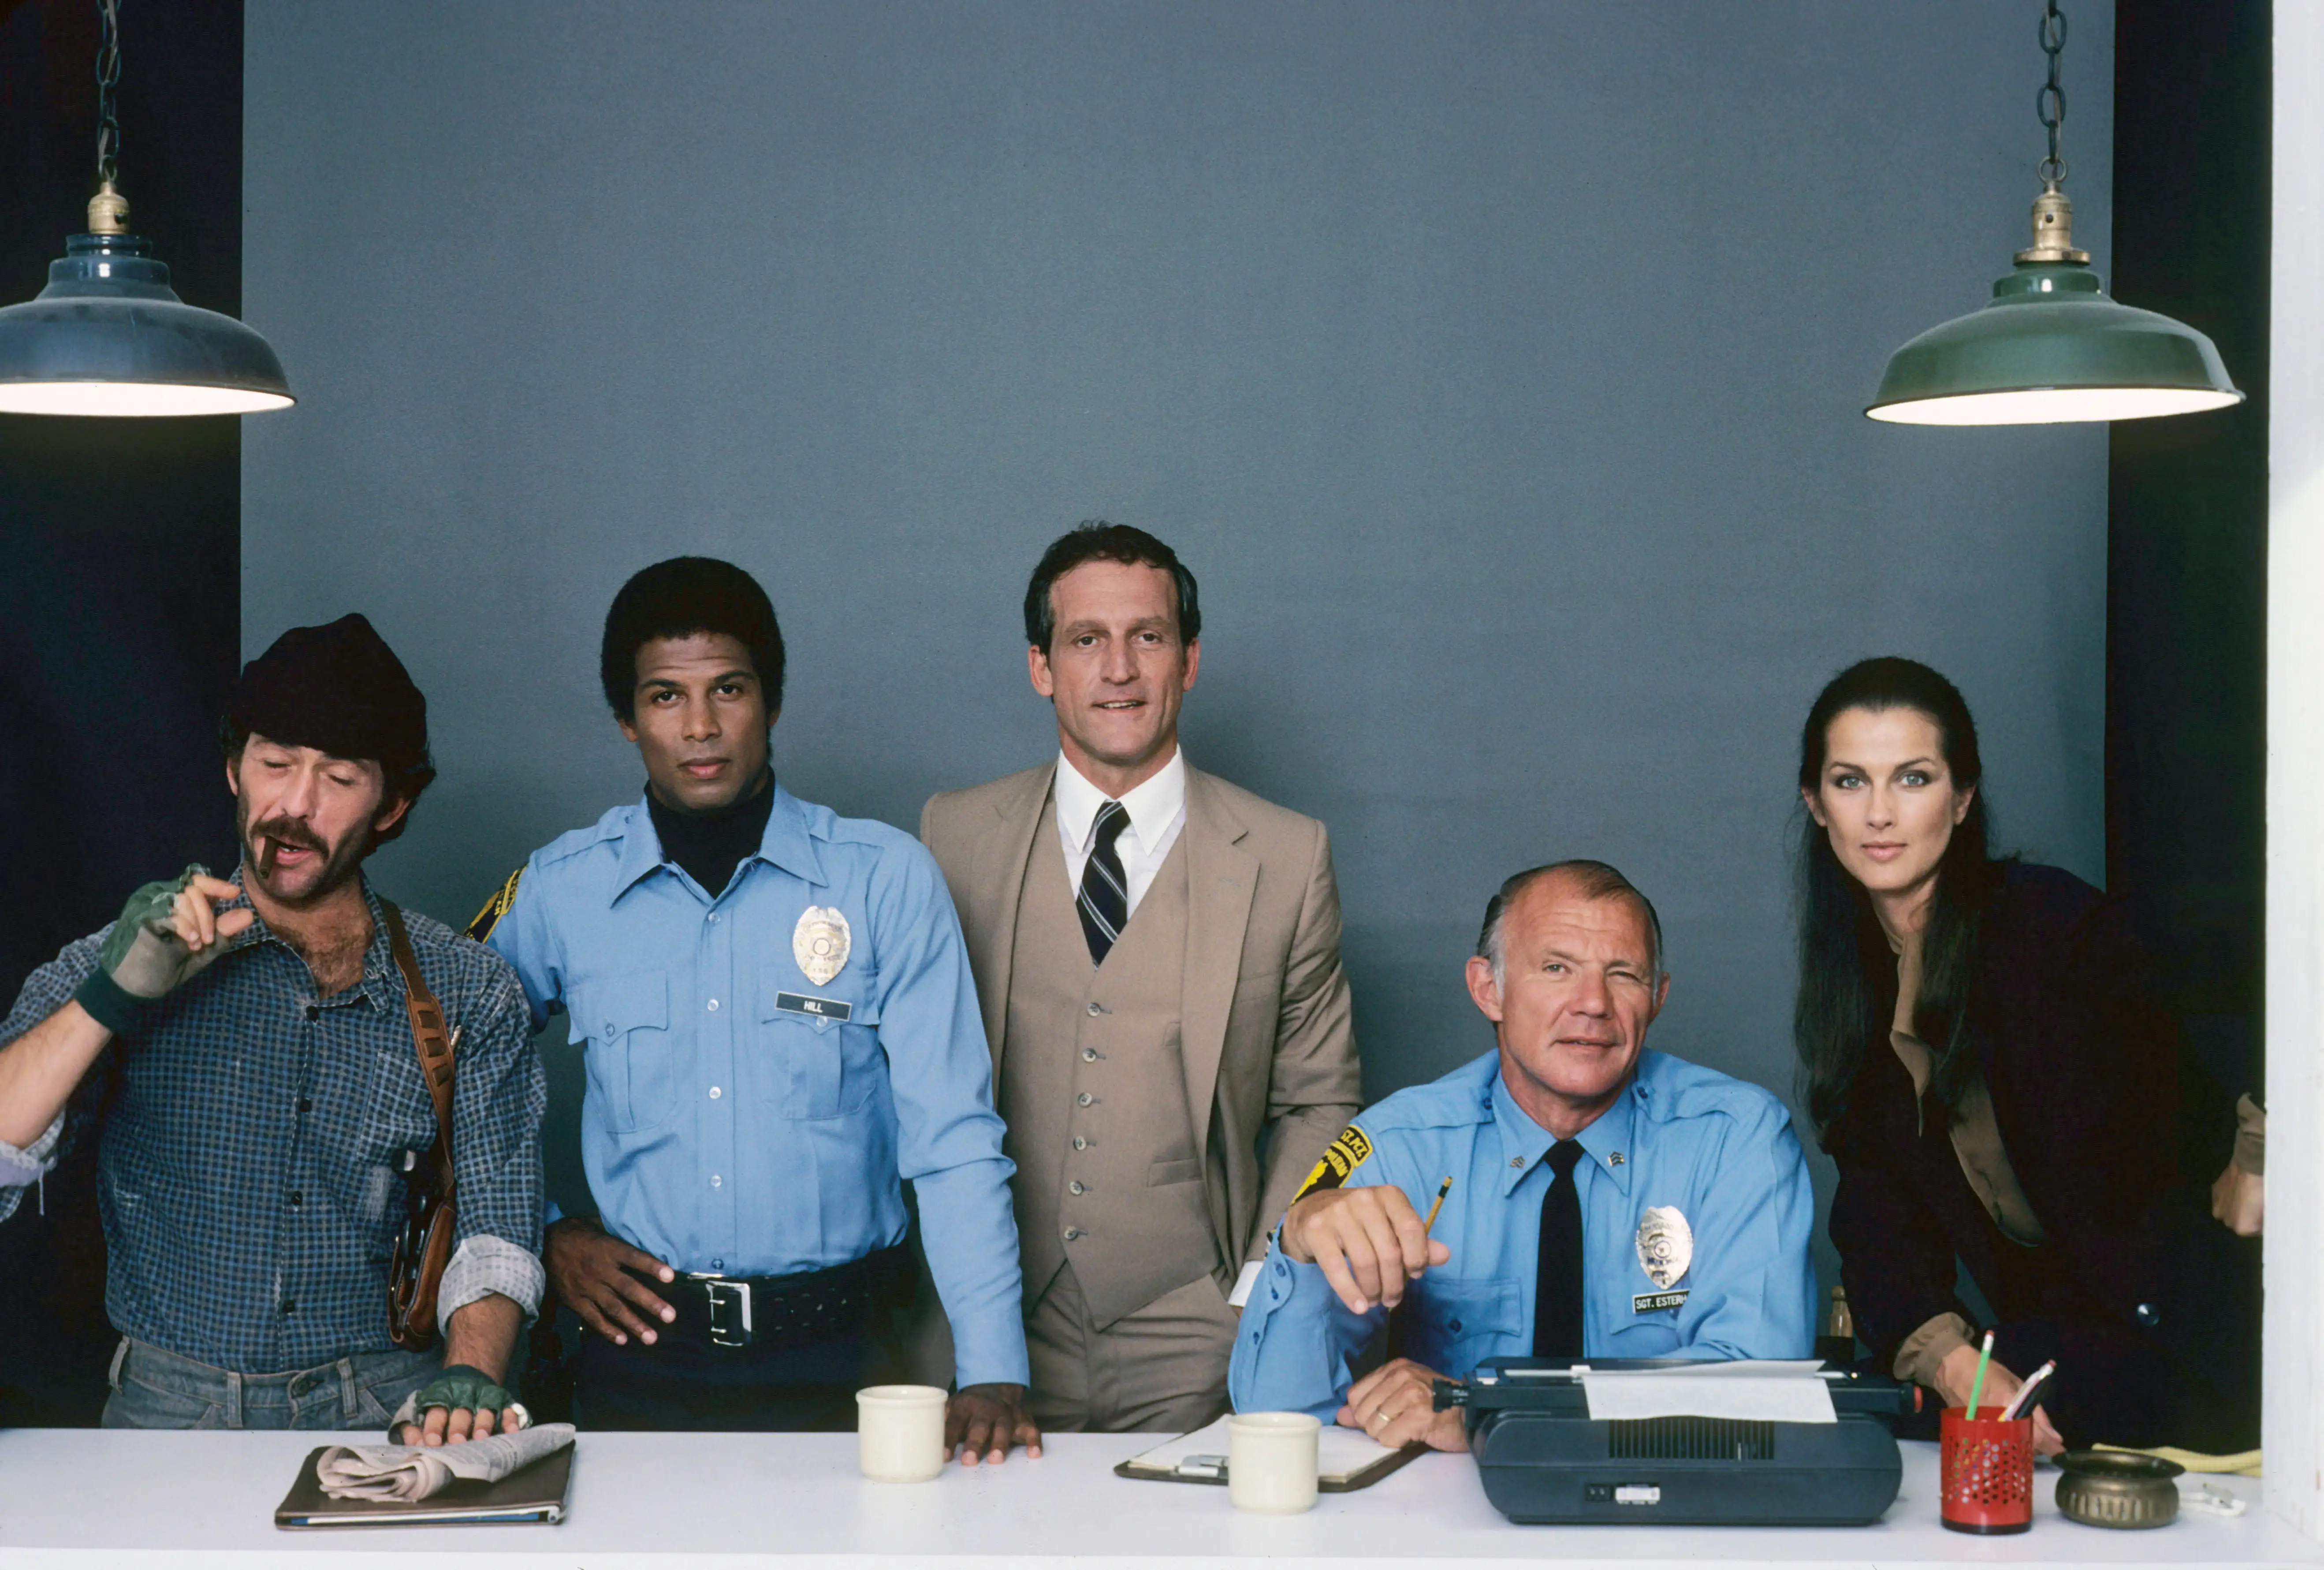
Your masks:
M2266 0L2126 0L2115 49L2113 290L2250 399L2113 430L2106 871L2229 1094L2261 1073L2271 42Z

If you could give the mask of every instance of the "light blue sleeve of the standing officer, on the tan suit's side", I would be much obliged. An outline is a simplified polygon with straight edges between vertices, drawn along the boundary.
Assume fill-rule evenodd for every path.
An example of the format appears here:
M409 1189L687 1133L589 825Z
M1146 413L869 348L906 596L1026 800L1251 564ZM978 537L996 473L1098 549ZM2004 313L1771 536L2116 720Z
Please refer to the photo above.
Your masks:
M1016 1212L992 1110L992 1052L960 917L920 845L874 887L881 1024L895 1089L897 1173L920 1198L920 1240L953 1324L960 1384L1027 1384Z

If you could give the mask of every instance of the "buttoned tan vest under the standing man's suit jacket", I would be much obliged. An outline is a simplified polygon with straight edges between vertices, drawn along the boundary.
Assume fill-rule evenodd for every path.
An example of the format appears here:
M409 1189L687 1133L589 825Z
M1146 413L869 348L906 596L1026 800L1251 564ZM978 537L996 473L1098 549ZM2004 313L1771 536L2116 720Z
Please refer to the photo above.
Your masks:
M1092 966L1055 804L1034 829L999 1080L1027 1308L1067 1259L1099 1326L1218 1270L1181 1050L1185 866L1181 836Z

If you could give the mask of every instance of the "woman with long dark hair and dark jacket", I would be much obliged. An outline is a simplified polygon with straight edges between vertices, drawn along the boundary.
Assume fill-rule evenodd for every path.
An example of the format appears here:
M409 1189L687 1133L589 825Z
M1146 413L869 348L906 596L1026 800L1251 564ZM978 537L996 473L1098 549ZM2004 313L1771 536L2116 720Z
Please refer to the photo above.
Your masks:
M1859 1335L1964 1405L1966 1268L1994 1328L1980 1407L2059 1363L2043 1452L2243 1449L2250 1245L2182 1182L2229 1159L2233 1117L2187 1122L2178 1024L2122 913L1992 855L1982 773L1968 704L1913 660L1841 671L1801 734L1794 1040Z

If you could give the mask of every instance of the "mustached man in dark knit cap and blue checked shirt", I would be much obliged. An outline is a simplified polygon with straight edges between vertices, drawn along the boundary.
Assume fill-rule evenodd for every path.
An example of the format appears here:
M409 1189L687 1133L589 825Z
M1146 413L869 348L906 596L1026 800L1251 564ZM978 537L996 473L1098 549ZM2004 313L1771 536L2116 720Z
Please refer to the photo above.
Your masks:
M500 955L372 892L435 778L428 701L360 615L242 669L221 741L242 864L149 883L0 1022L0 1219L98 1138L109 1428L518 1428L541 1296L541 1066ZM456 1043L442 1352L395 1347L386 1266L437 1110L397 922Z

